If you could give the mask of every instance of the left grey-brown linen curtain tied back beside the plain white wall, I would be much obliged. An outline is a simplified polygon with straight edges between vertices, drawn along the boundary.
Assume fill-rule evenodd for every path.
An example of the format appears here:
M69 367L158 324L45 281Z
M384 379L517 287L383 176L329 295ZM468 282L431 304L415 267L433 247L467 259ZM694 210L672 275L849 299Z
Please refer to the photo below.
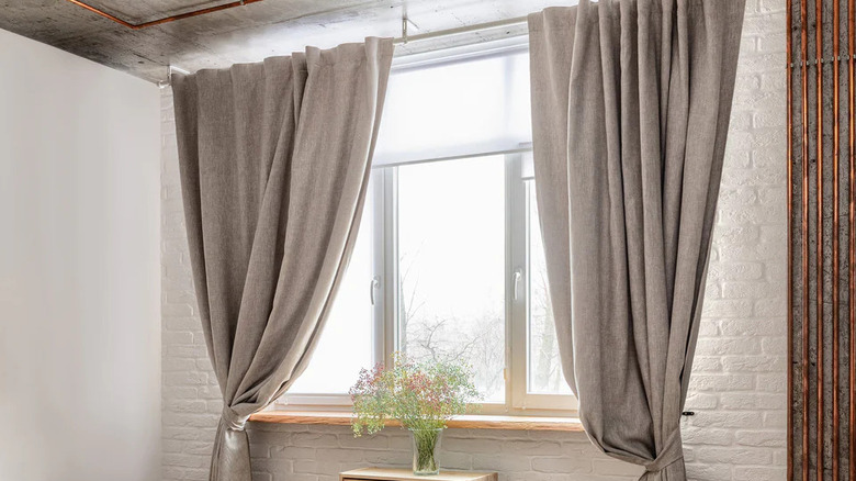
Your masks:
M348 264L392 40L173 77L184 215L223 392L211 480L250 481L245 424L306 368Z

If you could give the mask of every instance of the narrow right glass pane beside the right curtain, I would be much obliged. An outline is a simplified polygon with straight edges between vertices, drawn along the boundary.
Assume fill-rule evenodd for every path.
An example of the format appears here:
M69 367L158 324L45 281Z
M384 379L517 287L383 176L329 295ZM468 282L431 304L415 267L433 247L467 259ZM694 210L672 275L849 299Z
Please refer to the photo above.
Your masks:
M547 281L547 258L541 239L534 181L527 180L529 204L529 392L571 394L562 373L553 310Z

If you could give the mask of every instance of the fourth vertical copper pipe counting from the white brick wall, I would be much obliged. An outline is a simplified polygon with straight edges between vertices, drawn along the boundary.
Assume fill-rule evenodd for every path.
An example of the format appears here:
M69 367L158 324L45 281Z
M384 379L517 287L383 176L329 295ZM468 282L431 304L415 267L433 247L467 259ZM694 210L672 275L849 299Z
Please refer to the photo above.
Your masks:
M840 1L832 4L832 479L838 479L838 57Z

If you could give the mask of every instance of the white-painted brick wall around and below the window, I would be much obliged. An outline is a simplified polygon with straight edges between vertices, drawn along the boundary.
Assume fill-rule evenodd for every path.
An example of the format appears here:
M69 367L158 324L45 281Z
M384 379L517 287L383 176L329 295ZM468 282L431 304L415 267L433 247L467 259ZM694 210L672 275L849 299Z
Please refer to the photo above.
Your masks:
M692 480L785 479L785 1L748 0L713 258L684 422ZM176 154L162 97L164 479L207 479L219 390L195 315ZM347 427L250 426L255 481L333 481L367 465L407 465L403 432L353 439ZM639 468L582 434L450 429L450 468L503 481L634 480Z

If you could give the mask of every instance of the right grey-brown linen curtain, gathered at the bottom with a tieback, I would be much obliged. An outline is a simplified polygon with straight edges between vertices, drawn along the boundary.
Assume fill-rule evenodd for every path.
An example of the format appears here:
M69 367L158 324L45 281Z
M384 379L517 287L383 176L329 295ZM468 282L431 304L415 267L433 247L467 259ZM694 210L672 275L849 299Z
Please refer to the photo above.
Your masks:
M529 16L536 183L565 377L606 454L686 480L744 0L581 0Z

